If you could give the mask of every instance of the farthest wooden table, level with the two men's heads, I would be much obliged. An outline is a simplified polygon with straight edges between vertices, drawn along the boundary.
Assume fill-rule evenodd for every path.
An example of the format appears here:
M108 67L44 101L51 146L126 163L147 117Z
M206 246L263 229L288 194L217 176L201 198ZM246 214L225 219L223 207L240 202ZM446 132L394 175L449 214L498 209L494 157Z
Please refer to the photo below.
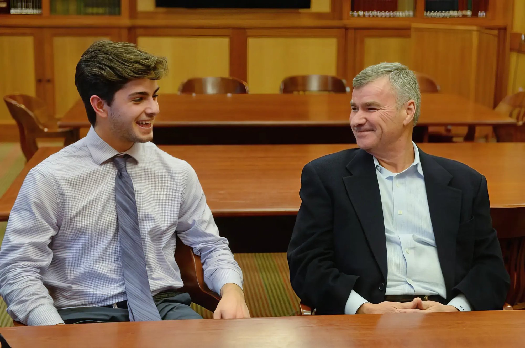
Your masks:
M345 144L351 94L216 94L159 97L156 144ZM415 136L428 126L509 126L516 122L486 106L442 93L422 94ZM60 127L90 126L81 100ZM472 134L474 136L474 134ZM416 140L418 141L418 140Z

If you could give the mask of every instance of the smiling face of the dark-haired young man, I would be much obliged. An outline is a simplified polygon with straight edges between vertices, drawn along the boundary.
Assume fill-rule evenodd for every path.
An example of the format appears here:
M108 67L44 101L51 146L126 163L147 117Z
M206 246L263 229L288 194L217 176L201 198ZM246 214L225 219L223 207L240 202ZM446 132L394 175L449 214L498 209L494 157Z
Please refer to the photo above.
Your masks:
M141 78L119 89L109 107L108 122L119 140L147 142L153 139L153 121L159 114L157 81Z

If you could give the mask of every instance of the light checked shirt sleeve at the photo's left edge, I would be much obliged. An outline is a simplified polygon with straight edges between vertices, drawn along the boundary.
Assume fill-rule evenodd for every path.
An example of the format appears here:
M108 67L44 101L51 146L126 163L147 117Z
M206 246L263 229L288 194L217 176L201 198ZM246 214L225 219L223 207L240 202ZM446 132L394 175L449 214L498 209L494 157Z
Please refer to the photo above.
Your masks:
M64 323L41 275L53 258L49 243L58 232L57 206L50 180L37 168L29 171L0 250L0 294L9 315L27 325Z

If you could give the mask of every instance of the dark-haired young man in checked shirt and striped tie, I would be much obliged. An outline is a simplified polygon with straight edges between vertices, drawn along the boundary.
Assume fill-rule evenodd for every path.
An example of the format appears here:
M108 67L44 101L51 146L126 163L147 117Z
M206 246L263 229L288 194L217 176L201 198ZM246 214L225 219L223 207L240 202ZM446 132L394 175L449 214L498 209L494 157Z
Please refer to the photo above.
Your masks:
M150 141L163 57L92 44L75 84L88 135L32 169L0 250L0 293L27 325L201 318L174 259L175 236L201 255L214 318L249 318L242 273L219 237L193 168Z

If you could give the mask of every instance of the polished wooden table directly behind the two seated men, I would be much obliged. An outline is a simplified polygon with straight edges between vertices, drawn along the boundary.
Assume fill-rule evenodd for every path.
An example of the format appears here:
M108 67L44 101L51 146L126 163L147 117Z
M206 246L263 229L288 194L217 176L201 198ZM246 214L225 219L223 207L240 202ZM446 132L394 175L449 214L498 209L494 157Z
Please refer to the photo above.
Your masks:
M525 161L517 158L525 154L525 143L425 143L419 146L431 155L458 160L485 175L495 226L501 228L498 225L505 224L506 233L523 234ZM301 203L302 167L315 158L351 147L355 145L161 146L193 166L215 217L295 215ZM40 148L29 160L0 199L0 221L8 219L29 169L59 149Z

